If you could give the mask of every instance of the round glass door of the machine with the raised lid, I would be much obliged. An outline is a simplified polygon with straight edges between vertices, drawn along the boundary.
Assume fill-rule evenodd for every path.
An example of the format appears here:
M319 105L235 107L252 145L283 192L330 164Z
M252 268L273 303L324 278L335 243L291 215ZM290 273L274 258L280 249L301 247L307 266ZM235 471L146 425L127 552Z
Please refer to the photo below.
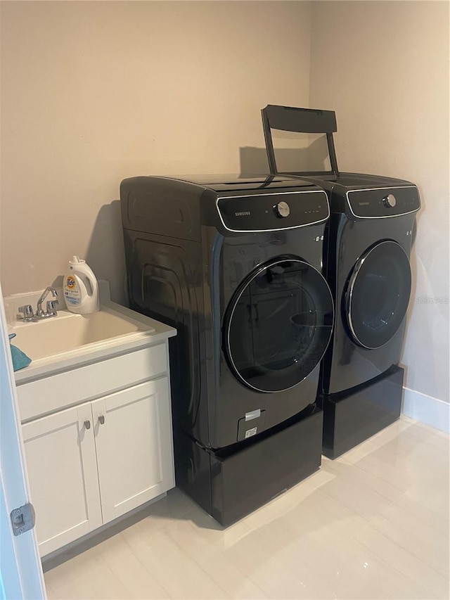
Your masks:
M345 294L353 340L371 350L385 345L406 315L411 293L409 258L399 243L383 241L356 262Z

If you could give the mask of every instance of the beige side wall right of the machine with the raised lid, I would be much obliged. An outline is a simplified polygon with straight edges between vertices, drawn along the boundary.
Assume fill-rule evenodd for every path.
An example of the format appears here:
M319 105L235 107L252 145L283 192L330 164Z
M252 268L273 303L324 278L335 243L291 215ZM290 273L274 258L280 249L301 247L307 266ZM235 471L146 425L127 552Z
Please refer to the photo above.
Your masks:
M310 94L340 170L418 185L406 387L449 402L449 3L314 2Z

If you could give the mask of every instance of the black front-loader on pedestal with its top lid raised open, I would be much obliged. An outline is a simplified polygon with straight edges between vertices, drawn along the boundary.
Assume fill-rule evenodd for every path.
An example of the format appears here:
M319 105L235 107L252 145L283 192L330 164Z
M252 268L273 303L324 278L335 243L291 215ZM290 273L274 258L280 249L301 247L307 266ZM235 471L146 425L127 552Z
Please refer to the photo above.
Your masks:
M277 172L272 129L304 134L309 160L321 162L316 170L295 174L322 186L330 202L325 272L336 318L318 403L324 411L323 454L335 458L400 415L404 370L399 360L419 193L410 181L340 173L333 111L269 105L262 118L271 172ZM323 168L316 134L326 134L329 170Z

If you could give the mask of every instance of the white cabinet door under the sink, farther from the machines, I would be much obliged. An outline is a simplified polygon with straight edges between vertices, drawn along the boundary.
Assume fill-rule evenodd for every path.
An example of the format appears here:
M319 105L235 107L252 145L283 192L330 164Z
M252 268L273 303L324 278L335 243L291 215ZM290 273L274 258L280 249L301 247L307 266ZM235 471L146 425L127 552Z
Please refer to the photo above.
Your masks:
M22 426L41 556L102 524L92 425L87 403Z

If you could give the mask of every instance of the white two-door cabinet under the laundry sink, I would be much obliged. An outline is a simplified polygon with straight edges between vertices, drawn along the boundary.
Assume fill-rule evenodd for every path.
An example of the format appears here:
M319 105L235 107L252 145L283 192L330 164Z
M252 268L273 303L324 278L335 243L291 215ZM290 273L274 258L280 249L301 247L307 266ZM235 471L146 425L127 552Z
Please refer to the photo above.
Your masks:
M162 362L142 363L138 385L130 385L130 361L158 357L158 346L120 357L110 377L110 361L104 361L89 366L89 380L75 369L18 386L19 406L23 400L25 414L34 419L22 427L41 556L174 487L166 348L162 344ZM99 376L105 395L95 397ZM84 390L72 399L79 404L54 411L58 396L65 406L73 395L65 390L73 390L74 382ZM50 406L52 414L35 418Z

